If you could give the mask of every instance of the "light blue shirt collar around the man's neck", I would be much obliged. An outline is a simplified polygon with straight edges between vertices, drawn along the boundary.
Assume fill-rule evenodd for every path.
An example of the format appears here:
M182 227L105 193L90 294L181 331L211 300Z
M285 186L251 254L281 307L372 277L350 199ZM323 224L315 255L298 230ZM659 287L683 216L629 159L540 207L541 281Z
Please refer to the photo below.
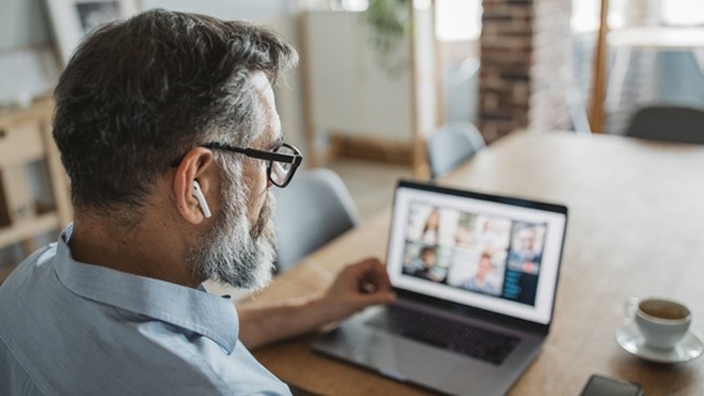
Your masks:
M69 290L97 302L144 315L201 334L232 353L239 336L238 315L229 296L132 275L75 261L69 224L57 243L56 274Z

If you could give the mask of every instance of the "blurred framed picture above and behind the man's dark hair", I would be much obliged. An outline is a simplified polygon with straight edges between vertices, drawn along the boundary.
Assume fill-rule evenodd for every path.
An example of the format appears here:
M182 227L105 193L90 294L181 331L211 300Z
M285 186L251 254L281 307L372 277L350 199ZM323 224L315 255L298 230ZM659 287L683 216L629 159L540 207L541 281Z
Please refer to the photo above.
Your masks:
M63 65L80 40L102 23L128 18L140 9L138 0L44 0L54 43Z

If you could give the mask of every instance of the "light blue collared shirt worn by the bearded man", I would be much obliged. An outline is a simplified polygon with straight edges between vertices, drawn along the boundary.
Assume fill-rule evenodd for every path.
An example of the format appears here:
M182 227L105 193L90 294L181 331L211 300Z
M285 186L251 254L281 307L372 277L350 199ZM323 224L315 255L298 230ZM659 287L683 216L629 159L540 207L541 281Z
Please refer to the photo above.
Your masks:
M69 226L0 287L0 395L289 395L229 297L79 263Z

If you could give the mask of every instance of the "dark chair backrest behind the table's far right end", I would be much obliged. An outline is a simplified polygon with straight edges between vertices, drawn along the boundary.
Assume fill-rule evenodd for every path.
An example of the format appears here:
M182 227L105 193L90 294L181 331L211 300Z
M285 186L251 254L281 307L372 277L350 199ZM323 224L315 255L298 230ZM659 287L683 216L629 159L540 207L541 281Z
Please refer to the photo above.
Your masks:
M704 110L674 106L646 107L634 114L626 135L704 144Z

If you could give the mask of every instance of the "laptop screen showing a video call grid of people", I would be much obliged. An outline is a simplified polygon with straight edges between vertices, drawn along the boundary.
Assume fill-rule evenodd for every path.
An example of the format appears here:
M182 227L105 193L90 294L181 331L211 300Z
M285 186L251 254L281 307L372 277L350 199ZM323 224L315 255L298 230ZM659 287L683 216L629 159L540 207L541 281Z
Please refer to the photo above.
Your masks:
M548 324L564 206L402 180L387 270L396 288Z

